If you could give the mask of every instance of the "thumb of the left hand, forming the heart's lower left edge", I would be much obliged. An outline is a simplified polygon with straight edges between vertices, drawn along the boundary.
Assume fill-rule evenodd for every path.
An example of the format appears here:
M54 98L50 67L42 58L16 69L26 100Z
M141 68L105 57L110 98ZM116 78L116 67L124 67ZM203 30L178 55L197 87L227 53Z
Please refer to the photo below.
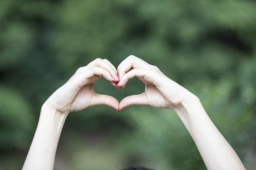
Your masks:
M96 106L96 105L105 105L110 106L114 108L115 110L119 110L119 102L116 98L112 96L102 95L102 94L96 94L92 96L90 101L90 106Z

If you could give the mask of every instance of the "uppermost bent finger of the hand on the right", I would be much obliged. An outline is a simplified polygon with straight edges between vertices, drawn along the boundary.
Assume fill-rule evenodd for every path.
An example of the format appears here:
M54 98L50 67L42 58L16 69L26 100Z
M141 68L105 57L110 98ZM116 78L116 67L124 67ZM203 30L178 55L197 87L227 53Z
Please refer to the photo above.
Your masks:
M117 67L117 72L119 74L119 78L122 79L124 74L129 72L131 69L150 69L150 64L144 62L144 60L139 59L133 55L127 57L124 61L122 61Z

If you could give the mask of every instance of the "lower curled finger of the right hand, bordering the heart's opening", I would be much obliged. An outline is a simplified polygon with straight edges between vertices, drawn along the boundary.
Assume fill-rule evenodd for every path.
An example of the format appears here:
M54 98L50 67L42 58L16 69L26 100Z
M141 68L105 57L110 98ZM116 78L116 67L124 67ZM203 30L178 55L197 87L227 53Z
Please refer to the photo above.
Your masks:
M117 86L125 86L129 79L134 77L138 77L144 84L153 84L154 79L156 79L155 72L148 70L148 69L132 69L131 71L124 74L122 79L120 79Z

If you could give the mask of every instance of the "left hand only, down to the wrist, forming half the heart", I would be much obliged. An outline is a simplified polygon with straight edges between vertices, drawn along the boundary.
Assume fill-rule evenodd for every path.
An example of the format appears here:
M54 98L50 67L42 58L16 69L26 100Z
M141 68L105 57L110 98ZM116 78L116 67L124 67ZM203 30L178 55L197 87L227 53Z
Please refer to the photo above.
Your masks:
M96 59L80 67L68 82L48 98L43 108L50 107L65 114L95 105L107 105L119 110L117 99L94 91L95 81L100 77L112 81L112 84L119 80L117 69L108 60Z

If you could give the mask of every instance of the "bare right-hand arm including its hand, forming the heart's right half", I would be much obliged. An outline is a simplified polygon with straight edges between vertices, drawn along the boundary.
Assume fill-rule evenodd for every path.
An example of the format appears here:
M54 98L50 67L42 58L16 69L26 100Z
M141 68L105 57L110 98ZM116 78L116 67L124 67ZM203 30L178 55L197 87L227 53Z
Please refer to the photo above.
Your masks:
M191 92L138 57L127 57L117 70L120 77L118 86L125 86L133 77L138 77L145 84L144 93L124 98L119 108L131 105L171 108L191 134L208 169L245 169L234 149L204 111L199 99Z

